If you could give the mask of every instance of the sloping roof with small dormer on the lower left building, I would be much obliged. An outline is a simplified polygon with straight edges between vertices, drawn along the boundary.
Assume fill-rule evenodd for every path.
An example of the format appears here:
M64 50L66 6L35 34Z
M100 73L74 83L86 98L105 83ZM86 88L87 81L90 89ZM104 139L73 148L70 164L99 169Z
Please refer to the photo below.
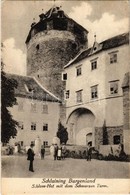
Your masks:
M34 77L7 74L8 78L15 79L18 83L15 89L17 97L30 98L35 100L61 102L59 98L46 90Z

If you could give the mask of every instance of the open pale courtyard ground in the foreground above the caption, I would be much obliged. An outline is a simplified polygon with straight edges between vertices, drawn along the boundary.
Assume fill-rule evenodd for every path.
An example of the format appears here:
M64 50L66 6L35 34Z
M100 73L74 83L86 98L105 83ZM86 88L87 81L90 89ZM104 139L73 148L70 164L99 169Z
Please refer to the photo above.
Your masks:
M44 160L35 158L34 170L28 171L26 156L2 156L2 177L17 178L129 178L130 163L117 161L99 161L92 159L67 158L54 161L51 156Z

